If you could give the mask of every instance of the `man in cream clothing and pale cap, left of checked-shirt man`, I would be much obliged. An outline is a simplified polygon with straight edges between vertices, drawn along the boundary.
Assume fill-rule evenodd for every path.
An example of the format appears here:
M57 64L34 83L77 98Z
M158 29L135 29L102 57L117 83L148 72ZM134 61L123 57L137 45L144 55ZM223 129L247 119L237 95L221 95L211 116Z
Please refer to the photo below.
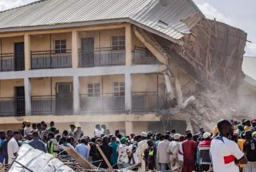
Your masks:
M138 171L146 171L146 162L143 159L144 156L144 150L148 147L147 144L147 137L148 134L146 132L141 133L141 138L142 140L138 143L138 159L139 163L141 164L141 168L139 168Z

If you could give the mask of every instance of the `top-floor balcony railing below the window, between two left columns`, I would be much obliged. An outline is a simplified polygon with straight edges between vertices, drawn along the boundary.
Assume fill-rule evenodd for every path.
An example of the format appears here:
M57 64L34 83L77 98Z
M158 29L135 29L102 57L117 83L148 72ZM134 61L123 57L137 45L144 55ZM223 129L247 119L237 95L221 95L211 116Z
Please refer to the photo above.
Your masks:
M31 69L72 68L72 50L31 52Z

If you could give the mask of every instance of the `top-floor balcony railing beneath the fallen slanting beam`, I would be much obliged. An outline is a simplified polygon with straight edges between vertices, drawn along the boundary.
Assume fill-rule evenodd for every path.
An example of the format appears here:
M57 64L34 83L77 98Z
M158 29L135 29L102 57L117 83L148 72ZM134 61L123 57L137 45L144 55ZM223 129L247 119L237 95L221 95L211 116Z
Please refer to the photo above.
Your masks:
M159 61L147 48L135 47L132 52L132 64L159 64Z

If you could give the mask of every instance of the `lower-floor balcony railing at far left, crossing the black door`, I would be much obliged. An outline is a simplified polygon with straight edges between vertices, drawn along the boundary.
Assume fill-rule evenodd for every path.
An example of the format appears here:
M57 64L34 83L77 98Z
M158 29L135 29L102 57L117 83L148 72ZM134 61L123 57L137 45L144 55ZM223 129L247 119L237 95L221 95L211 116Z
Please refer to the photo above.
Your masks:
M24 97L0 98L0 116L17 117L25 115Z

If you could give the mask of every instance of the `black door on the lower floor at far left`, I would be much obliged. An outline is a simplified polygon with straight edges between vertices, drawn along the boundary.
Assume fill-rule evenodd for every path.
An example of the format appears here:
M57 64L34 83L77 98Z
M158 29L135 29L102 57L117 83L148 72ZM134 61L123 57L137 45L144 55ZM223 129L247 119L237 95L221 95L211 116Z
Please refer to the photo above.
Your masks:
M25 115L25 91L24 87L15 87L15 106L18 117Z

